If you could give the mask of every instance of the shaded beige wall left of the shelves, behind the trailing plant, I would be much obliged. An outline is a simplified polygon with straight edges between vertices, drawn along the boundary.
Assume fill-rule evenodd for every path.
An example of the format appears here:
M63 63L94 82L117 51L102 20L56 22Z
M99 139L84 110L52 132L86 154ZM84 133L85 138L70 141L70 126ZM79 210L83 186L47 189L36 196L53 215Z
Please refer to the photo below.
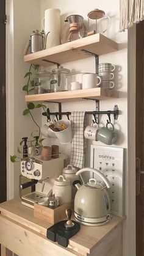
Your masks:
M22 87L29 64L23 61L23 51L33 29L40 29L40 1L6 0L6 84L7 84L7 198L19 194L20 163L10 163L10 155L17 153L21 137L29 136L37 127L31 117L23 117L26 108ZM40 111L35 111L41 122Z

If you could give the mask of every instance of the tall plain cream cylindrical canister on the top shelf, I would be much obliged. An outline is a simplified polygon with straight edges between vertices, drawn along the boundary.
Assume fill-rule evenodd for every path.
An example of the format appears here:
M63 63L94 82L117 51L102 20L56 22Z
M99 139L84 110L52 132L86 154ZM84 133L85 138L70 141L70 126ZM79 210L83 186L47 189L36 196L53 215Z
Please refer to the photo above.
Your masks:
M45 34L48 34L46 49L60 45L60 10L45 10Z

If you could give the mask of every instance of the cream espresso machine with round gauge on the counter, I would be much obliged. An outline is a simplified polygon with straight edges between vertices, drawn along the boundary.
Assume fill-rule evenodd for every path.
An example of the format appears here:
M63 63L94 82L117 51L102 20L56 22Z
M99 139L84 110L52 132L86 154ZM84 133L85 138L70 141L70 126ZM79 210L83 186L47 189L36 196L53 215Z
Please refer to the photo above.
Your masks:
M62 174L67 156L60 154L59 158L49 161L41 160L41 156L21 159L21 174L31 179L27 183L21 184L20 189L35 185L35 192L21 197L21 203L27 207L34 208L34 203L43 197L52 196L52 186L54 179Z

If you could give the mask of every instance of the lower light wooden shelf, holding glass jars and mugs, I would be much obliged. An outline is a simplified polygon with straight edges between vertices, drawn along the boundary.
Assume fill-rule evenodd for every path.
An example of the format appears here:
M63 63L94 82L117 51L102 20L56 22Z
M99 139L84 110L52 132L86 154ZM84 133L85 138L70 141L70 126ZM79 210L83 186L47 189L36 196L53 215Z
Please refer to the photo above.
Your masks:
M84 98L95 98L96 100L106 100L108 98L118 98L116 90L91 88L83 90L69 90L67 92L51 92L35 95L26 95L26 101L54 101L54 102L69 102L81 101Z

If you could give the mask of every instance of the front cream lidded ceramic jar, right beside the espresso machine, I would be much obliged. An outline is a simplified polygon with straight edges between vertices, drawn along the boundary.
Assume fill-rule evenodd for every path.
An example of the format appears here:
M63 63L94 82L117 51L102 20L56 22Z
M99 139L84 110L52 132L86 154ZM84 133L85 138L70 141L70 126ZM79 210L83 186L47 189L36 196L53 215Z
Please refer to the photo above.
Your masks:
M52 194L54 194L55 197L59 197L59 205L70 203L72 199L70 179L63 177L63 175L56 178L56 180L54 180Z

